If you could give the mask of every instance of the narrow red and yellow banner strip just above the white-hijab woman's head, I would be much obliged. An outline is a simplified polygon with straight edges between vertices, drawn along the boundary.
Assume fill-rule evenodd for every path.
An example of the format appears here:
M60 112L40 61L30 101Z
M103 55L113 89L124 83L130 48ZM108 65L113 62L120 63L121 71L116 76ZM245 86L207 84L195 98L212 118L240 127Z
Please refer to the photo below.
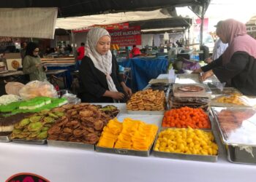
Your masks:
M118 29L129 28L129 23L114 23L114 24L110 24L110 25L92 25L92 26L72 30L72 32L74 32L74 33L86 32L86 31L89 31L93 27L105 28L106 30L118 30Z

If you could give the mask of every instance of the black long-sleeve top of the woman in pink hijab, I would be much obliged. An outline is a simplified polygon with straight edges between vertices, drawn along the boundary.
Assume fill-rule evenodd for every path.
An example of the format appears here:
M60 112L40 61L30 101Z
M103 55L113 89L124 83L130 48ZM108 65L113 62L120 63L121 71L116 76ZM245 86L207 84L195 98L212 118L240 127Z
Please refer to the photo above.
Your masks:
M229 63L222 66L222 56L203 66L212 70L220 82L229 82L245 95L256 95L256 60L246 52L235 52Z

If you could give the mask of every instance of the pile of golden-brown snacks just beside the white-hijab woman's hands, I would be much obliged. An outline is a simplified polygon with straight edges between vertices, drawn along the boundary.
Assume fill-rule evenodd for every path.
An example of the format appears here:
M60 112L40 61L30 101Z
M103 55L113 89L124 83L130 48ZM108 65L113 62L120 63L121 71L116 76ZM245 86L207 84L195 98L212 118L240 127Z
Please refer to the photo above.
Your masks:
M161 90L142 90L135 92L127 102L128 114L164 114L165 92Z

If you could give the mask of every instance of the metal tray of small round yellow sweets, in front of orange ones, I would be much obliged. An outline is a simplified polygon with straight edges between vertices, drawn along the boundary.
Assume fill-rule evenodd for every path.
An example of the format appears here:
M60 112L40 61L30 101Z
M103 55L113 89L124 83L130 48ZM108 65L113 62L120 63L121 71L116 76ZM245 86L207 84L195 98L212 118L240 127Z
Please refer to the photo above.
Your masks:
M181 136L177 137L176 134L172 133L173 130L180 130L179 132L181 132L182 134L179 134L179 135ZM169 131L170 131L170 135L165 133ZM182 136L183 132L187 133L186 138ZM191 134L189 134L193 132L195 133L194 138L192 138L190 136ZM200 132L200 134L197 135L197 132L198 133ZM211 135L211 137L208 138L208 140L211 140L211 142L206 143L206 141L201 140L200 138L198 139L199 135L203 135L203 136ZM214 139L214 134L213 132L211 132L211 130L198 130L198 129L193 130L191 128L189 129L162 128L162 131L159 132L157 136L157 140L154 143L153 154L155 157L164 157L164 158L170 158L170 159L185 159L185 160L203 161L203 162L217 162L218 146Z

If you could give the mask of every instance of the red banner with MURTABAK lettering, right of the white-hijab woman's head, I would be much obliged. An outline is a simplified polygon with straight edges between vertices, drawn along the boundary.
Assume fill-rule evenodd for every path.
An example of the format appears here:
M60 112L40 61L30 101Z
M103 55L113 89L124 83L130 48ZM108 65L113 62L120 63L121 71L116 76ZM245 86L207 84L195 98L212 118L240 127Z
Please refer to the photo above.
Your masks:
M141 45L140 26L129 27L122 30L109 30L111 44L118 44L119 47Z

